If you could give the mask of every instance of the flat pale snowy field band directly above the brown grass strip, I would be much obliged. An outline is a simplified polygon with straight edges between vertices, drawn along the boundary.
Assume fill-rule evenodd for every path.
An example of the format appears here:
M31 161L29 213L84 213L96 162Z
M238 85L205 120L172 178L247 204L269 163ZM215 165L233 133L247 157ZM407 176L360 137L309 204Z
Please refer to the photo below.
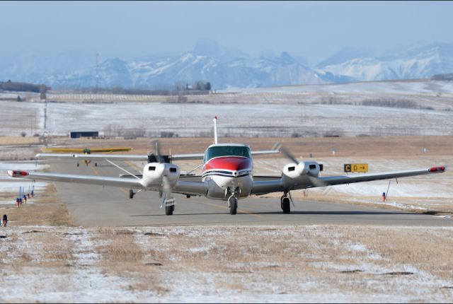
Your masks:
M4 102L8 117L0 135L16 135L22 131L44 133L43 107L37 103ZM13 109L16 107L14 114ZM25 110L24 110L25 109ZM22 111L36 112L36 120L25 118L18 124ZM46 131L51 135L68 135L69 131L104 131L120 128L160 136L161 131L173 131L178 136L207 136L212 131L212 118L219 117L219 136L357 136L357 135L452 135L453 111L364 105L298 105L288 104L159 104L117 103L79 104L49 103Z

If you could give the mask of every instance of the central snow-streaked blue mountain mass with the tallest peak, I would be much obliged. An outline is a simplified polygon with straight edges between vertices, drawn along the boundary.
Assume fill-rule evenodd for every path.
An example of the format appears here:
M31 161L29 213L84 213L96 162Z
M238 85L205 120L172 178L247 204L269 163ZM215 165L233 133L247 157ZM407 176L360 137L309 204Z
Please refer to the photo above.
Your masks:
M96 86L96 69L90 66L40 79L52 88L89 88ZM195 81L210 81L214 89L323 83L315 71L287 52L279 57L251 58L205 42L179 56L130 62L115 58L98 65L99 87L166 88Z

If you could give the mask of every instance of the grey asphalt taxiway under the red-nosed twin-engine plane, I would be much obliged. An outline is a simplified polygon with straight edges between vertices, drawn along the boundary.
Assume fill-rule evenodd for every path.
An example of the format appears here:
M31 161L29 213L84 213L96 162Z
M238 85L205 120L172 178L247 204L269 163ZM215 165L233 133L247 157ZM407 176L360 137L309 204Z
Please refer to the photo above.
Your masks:
M137 173L127 163L118 162ZM81 175L118 176L120 169L106 162L86 166L68 160L52 160L51 171ZM137 173L141 174L141 173ZM294 199L291 214L282 214L279 198L249 197L239 201L238 214L230 215L223 201L175 194L172 216L159 209L157 192L139 192L129 198L129 189L55 182L61 201L78 226L234 226L234 225L369 225L453 226L452 218L377 209L354 204Z

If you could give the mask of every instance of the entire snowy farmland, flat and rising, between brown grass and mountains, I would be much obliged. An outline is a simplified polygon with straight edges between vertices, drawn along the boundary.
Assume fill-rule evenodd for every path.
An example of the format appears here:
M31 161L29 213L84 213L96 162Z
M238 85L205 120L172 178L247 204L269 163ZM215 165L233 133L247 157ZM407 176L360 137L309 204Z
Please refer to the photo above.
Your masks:
M115 126L143 130L147 136L161 131L200 136L210 134L215 115L221 136L451 135L452 92L448 81L383 81L243 89L191 95L188 103L169 103L166 98L172 97L166 96L134 101L117 95L102 95L110 103L102 103L98 95L81 95L80 102L50 94L49 100L59 102L47 103L47 110L45 103L2 101L0 136L22 131L67 135ZM411 108L362 105L367 100L406 102Z

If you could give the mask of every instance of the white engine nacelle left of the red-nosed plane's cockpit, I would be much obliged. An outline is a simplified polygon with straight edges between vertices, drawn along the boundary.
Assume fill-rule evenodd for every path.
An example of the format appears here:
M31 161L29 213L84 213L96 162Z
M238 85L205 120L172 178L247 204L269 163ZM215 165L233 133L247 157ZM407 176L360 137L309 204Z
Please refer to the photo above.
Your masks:
M166 176L171 187L178 182L180 168L173 163L147 163L143 168L142 183L144 187L160 189L162 177Z

